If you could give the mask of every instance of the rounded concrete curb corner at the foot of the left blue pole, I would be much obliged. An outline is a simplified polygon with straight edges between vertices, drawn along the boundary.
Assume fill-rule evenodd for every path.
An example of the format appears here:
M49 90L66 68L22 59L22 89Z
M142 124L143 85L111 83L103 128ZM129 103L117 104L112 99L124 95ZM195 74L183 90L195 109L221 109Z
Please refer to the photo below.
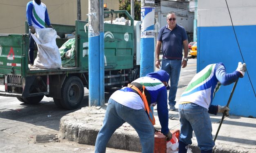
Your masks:
M66 115L60 119L59 138L78 142L80 144L95 145L98 132L102 127L106 105L98 110L94 110L94 113L85 110L92 110L89 107L82 109L71 113L71 116ZM95 113L95 111L98 112ZM102 114L100 112L102 112ZM81 116L82 118L78 116ZM128 151L141 151L138 134L127 123L123 124L122 127L114 132L107 147Z

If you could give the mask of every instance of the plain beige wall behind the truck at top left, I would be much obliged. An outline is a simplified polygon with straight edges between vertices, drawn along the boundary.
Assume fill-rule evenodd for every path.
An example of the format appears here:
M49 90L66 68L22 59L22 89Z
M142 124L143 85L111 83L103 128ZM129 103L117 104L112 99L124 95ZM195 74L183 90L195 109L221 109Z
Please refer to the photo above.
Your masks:
M26 6L30 0L0 1L0 33L24 33ZM41 0L45 3L51 23L75 25L77 0ZM104 0L107 7L118 10L118 0ZM81 0L82 20L87 19L88 0Z

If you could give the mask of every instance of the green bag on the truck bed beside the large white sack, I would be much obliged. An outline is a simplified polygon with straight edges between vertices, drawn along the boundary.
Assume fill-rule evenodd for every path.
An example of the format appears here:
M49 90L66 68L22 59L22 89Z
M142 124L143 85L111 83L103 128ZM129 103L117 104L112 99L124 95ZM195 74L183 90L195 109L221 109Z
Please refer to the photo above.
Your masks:
M75 38L69 39L59 48L63 68L75 67L75 42Z

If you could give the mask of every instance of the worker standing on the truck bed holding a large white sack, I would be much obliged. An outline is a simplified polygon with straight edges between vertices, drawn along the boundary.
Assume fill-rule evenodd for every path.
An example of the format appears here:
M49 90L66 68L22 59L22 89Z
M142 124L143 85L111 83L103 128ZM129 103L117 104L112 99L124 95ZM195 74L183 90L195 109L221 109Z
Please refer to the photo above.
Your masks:
M53 28L49 20L47 8L41 0L32 0L27 3L27 22L29 24L29 61L30 65L34 64L35 41L31 33L36 33L36 28L45 28L45 23L49 28Z

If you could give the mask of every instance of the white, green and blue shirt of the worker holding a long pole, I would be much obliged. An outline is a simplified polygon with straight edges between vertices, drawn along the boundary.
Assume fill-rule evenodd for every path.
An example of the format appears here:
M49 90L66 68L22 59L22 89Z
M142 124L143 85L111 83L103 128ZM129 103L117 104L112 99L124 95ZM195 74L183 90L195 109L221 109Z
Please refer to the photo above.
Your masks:
M210 64L198 72L187 85L180 102L190 102L208 109L220 85L229 85L239 78L240 73L226 73L223 63Z

